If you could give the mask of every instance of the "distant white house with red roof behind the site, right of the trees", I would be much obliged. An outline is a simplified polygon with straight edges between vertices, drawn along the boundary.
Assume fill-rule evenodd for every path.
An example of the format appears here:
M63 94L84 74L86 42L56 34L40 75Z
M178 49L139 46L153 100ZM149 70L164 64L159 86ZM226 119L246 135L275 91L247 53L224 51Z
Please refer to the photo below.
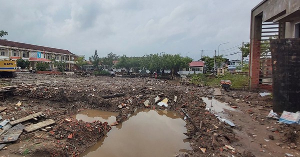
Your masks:
M193 61L189 63L188 68L181 68L180 71L178 71L178 74L188 75L193 73L203 73L204 69L204 62L203 61Z

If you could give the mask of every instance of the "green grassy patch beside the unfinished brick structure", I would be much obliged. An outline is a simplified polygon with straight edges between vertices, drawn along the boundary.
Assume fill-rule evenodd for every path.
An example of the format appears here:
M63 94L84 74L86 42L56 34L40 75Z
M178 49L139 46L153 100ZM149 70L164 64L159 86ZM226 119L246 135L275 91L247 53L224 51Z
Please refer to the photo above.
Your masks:
M225 74L224 76L210 76L204 74L193 74L191 77L191 83L202 84L204 86L219 87L220 80L230 80L234 89L246 89L248 86L248 77L239 74Z

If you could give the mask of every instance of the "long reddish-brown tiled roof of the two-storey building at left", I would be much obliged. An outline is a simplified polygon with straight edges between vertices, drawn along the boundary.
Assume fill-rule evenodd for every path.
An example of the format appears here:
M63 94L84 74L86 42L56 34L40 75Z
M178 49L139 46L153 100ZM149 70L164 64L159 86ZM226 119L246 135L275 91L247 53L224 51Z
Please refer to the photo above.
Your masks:
M45 46L38 46L38 45L31 45L31 44L8 41L8 40L0 40L0 46L9 46L9 47L32 49L32 50L38 50L38 51L41 51L41 52L43 52L43 50L44 50L44 51L47 51L47 52L55 52L55 53L61 53L61 54L73 54L68 50L45 47Z

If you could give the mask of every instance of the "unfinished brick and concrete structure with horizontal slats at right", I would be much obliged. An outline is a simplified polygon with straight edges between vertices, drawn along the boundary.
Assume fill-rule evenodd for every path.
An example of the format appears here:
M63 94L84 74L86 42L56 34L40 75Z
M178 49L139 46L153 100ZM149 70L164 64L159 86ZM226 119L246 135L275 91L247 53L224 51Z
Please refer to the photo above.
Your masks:
M249 88L272 90L269 37L300 37L300 0L263 0L251 10ZM296 34L296 35L295 35ZM268 46L267 46L268 45Z

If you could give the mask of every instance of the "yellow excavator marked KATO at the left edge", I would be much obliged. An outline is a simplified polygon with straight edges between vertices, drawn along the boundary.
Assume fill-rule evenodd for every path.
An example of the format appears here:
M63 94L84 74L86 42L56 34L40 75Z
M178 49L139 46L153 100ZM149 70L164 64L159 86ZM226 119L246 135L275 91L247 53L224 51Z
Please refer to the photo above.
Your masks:
M12 78L16 77L16 61L0 60L0 77Z

